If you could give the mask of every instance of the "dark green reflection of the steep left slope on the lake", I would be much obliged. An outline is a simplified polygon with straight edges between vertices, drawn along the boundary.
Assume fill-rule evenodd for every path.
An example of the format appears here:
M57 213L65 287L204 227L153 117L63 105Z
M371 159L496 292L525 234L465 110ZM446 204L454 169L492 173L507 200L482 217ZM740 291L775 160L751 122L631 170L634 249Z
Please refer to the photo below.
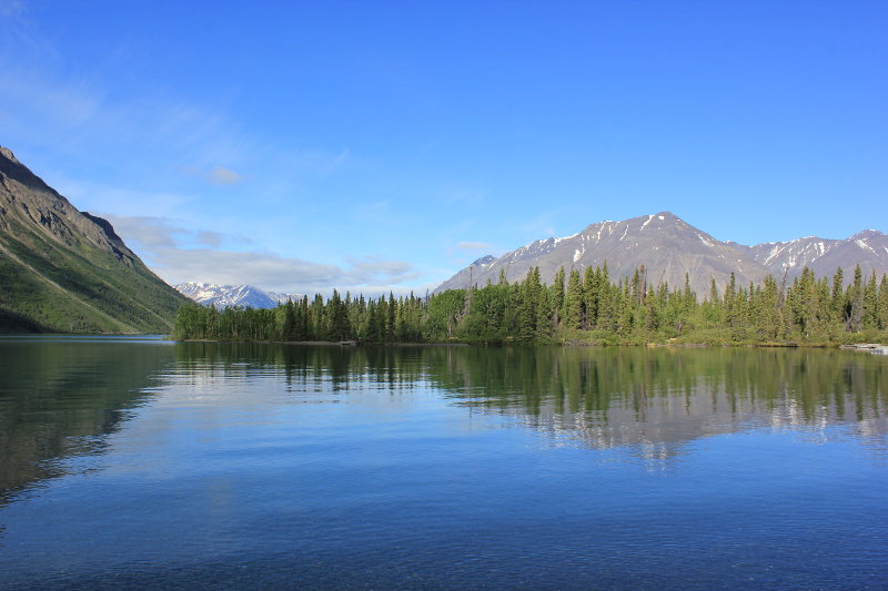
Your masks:
M103 436L150 397L173 361L169 345L145 337L0 337L0 502L4 492L63 475L62 458L101 452Z

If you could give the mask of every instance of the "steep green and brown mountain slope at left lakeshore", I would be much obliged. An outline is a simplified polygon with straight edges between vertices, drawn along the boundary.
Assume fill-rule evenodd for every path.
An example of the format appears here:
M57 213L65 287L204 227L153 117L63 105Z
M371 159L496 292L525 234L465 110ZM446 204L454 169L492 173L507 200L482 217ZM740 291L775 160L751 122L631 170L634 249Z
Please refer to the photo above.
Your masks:
M186 299L0 147L0 330L170 333Z

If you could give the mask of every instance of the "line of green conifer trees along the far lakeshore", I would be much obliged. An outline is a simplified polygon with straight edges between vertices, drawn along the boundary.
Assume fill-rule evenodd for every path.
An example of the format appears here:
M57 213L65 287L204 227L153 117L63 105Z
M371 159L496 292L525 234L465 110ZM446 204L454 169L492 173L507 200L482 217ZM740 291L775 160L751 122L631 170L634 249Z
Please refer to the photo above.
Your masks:
M315 295L273 309L188 305L173 336L219 340L361 340L365 343L808 343L888 340L888 275L864 277L860 266L816 277L805 268L787 284L768 276L724 292L715 279L700 298L683 286L653 285L644 266L612 282L607 264L565 271L552 285L539 268L521 282L450 289L426 297L329 298Z

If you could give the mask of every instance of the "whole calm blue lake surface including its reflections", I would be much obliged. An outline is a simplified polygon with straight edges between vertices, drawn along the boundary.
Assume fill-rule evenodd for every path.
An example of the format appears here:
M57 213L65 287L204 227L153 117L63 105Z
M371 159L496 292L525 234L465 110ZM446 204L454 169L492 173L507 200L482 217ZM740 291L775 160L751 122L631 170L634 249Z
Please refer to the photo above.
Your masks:
M888 357L0 338L0 588L886 589Z

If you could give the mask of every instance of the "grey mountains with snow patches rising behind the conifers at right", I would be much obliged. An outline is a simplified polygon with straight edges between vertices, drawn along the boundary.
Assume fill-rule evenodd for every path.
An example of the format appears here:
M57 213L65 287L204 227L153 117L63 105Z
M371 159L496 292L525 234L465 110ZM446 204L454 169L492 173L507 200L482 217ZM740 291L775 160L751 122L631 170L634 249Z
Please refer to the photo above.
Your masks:
M865 230L845 240L808 236L745 246L722 242L669 212L660 212L591 224L573 236L538 240L500 257L484 256L435 292L496 283L501 272L508 282L516 282L537 266L541 278L552 283L562 266L582 272L605 262L612 281L644 266L648 284L666 282L678 287L687 274L690 287L703 296L708 295L713 279L724 289L731 273L740 285L757 284L768 275L791 281L806 266L817 276L833 275L842 267L846 282L858 264L865 276L872 272L880 276L888 273L888 235Z

